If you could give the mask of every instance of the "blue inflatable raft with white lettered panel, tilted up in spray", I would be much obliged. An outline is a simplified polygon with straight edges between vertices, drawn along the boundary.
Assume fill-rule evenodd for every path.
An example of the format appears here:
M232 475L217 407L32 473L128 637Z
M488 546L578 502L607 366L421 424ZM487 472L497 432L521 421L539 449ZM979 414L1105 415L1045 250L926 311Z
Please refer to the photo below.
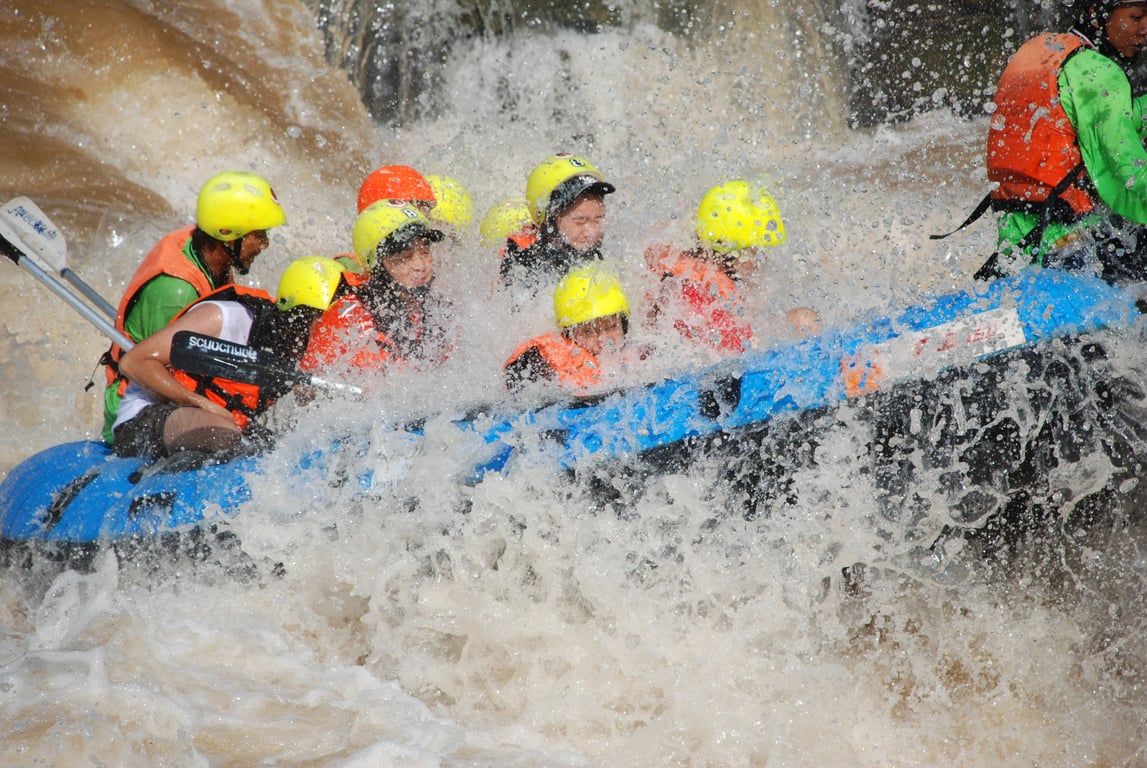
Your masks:
M469 483L513 472L526 459L536 464L539 455L555 471L577 471L687 452L719 436L764 433L790 414L887 398L905 383L934 382L943 371L965 371L1006 354L1038 355L1056 339L1130 329L1139 315L1130 291L1032 268L891 318L651 385L452 426L459 440L482 446L466 472ZM337 450L333 445L307 461L321 464ZM28 459L0 484L0 541L100 544L213 524L251 501L250 480L264 471L264 459L153 471L143 460L116 457L99 442L58 445ZM305 478L311 469L292 476ZM356 483L368 493L374 480L367 472Z

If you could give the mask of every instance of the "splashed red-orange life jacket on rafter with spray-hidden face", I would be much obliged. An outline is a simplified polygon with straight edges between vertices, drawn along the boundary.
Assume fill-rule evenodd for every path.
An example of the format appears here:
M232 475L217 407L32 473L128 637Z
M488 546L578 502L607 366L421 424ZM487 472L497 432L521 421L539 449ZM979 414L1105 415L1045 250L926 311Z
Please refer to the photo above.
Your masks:
M669 245L656 245L646 251L646 265L662 280L673 279L676 296L699 319L688 322L674 318L673 328L681 336L704 342L726 352L743 352L752 338L752 327L740 319L741 298L736 282L715 264L682 253ZM656 316L664 307L653 296L647 297L650 314Z

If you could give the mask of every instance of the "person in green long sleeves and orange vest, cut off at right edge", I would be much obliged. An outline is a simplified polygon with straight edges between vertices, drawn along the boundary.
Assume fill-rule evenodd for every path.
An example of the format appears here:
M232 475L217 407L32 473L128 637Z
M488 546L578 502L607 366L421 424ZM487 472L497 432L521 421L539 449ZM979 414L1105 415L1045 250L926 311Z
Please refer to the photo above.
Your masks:
M974 214L1000 213L998 245L977 279L1028 264L1147 277L1147 124L1128 77L1147 44L1147 0L1077 6L1069 32L1029 40L1000 77L988 136L997 187Z

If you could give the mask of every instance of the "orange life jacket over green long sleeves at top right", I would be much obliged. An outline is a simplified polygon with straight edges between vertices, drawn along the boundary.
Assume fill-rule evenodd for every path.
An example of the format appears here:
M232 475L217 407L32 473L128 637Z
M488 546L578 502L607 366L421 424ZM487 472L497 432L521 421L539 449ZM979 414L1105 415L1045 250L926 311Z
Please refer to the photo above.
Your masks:
M988 132L988 179L999 185L991 193L993 209L1038 211L1032 203L1053 194L1071 214L1094 207L1094 197L1079 183L1086 171L1076 130L1060 104L1060 72L1084 47L1091 45L1075 34L1040 34L1004 69ZM1078 178L1068 180L1072 173Z

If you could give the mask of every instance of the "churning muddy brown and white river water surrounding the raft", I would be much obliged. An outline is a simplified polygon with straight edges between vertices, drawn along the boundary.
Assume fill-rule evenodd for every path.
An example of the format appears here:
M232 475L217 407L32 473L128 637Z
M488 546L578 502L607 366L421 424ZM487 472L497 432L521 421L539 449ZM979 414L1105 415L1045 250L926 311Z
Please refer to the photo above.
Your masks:
M372 123L295 2L7 2L3 193L62 225L73 268L116 299L208 175L256 171L289 217L249 276L273 289L291 258L346 250L358 182L380 164L453 175L481 215L571 150L618 187L606 245L633 296L643 249L680 241L700 195L744 175L770 180L789 235L754 299L760 328L781 332L797 304L833 324L968 287L990 225L927 235L983 194L985 120L846 128L814 3L755 5L716 19L708 44L640 14L624 31L460 42L436 85L448 107L398 128ZM1058 535L983 558L930 551L953 510L924 472L897 488L914 503L889 503L857 405L816 436L790 497L752 519L716 465L603 506L543 467L466 487L432 430L414 456L393 449L388 424L501 397L499 363L545 323L490 298L494 258L443 260L466 334L432 379L294 414L232 525L255 578L110 551L86 570L0 573L0 763L1147 762L1133 508L1058 527L1052 499ZM7 471L97 437L84 385L106 343L7 261L0 284ZM1137 335L1102 343L1141 379ZM401 475L400 492L292 483L296 456L348 431L369 438L348 461ZM1089 489L1111 468L1056 472Z

